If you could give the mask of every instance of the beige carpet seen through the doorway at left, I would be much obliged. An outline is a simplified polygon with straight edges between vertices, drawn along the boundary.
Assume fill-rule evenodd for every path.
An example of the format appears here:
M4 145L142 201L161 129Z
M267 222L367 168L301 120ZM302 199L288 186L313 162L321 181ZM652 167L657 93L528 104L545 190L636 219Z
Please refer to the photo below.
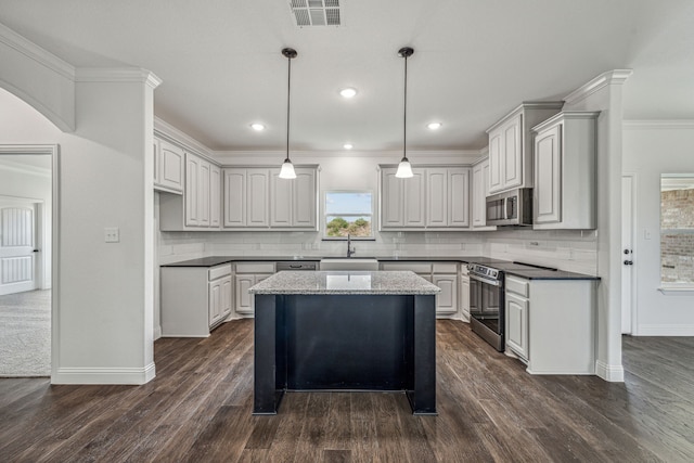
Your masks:
M50 290L0 296L0 377L50 374Z

